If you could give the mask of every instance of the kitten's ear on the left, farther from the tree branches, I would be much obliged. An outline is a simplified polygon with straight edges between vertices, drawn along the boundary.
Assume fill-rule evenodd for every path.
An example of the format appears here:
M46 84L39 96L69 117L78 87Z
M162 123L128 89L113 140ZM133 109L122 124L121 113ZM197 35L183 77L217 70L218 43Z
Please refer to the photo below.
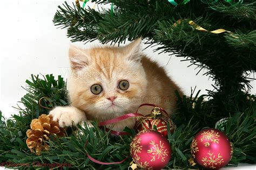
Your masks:
M69 60L72 70L79 70L88 65L88 56L82 49L70 46Z

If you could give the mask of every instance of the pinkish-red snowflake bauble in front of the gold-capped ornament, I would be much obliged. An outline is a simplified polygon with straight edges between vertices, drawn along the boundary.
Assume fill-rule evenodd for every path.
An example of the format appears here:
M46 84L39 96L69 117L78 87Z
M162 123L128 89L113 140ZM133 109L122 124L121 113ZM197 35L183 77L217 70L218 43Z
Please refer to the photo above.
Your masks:
M164 168L171 159L169 141L154 130L140 131L130 144L130 152L135 164L140 168Z

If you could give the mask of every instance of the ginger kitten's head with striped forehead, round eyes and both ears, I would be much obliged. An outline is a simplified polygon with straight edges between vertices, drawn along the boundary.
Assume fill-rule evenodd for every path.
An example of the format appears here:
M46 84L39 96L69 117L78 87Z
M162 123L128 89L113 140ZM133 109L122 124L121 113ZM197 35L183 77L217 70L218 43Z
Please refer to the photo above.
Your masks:
M139 104L138 98L145 95L147 87L138 43L89 51L70 49L73 67L69 94L72 105L96 119L134 112Z

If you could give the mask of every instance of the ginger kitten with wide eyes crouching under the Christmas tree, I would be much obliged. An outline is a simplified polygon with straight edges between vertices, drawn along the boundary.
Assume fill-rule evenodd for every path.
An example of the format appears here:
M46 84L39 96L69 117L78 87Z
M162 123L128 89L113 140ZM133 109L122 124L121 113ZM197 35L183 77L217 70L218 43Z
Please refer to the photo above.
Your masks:
M164 108L169 116L176 105L174 90L180 89L165 70L140 51L141 39L124 47L80 49L70 47L71 76L68 91L71 105L50 111L61 127L82 121L106 121L135 112L142 103ZM152 107L139 113L150 114ZM114 125L113 130L133 128L134 119Z

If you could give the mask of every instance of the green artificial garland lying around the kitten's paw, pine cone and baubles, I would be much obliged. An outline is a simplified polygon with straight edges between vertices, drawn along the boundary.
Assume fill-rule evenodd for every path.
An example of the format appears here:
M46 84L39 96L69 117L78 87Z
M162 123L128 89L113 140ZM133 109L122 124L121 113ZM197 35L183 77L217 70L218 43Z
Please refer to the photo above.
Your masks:
M89 153L93 158L103 162L120 161L130 155L129 145L134 130L126 129L131 136L115 137L104 129L99 129L97 123L94 128L74 127L78 133L72 133L69 129L69 136L60 139L49 140L50 150L42 152L42 155L34 155L25 144L26 130L30 128L33 118L48 113L50 110L42 108L38 101L44 98L41 103L44 107L52 108L56 105L67 105L66 86L63 78L58 76L55 80L52 75L32 75L31 81L26 81L28 93L21 99L25 109L17 107L19 115L5 119L0 112L0 164L5 167L17 166L19 169L33 169L49 167L66 168L88 168L88 169L126 169L131 158L123 164L99 165L86 157ZM177 130L169 134L168 140L172 146L172 158L166 168L192 168L188 164L191 157L190 144L196 133L205 126L209 126L212 119L220 119L214 116L214 105L204 101L206 95L199 96L199 92L191 96L179 96L178 112L173 117ZM256 163L256 96L239 94L246 97L244 101L246 108L237 107L238 110L229 117L225 124L225 133L234 144L234 153L230 165L238 165L240 162ZM192 97L196 96L196 97ZM46 100L47 99L47 100ZM214 123L212 123L213 127ZM86 141L88 141L86 147ZM9 164L8 164L9 162ZM10 164L10 162L12 162ZM9 166L8 166L9 165ZM195 166L197 167L197 166ZM200 167L198 167L200 168Z

